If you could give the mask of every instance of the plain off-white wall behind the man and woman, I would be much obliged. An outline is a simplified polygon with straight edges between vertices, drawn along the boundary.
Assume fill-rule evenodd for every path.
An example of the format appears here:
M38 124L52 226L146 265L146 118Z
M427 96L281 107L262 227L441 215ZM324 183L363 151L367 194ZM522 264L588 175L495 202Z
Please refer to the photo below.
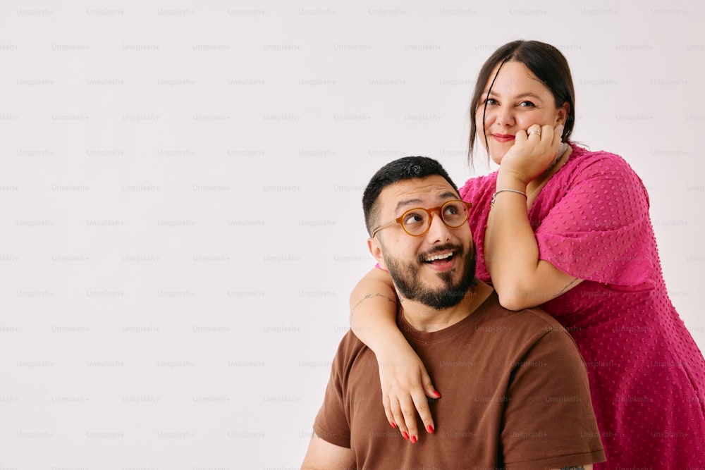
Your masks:
M563 51L573 138L644 180L704 347L705 15L666 5L4 2L0 469L298 468L373 265L364 185L409 154L462 185L513 39Z

